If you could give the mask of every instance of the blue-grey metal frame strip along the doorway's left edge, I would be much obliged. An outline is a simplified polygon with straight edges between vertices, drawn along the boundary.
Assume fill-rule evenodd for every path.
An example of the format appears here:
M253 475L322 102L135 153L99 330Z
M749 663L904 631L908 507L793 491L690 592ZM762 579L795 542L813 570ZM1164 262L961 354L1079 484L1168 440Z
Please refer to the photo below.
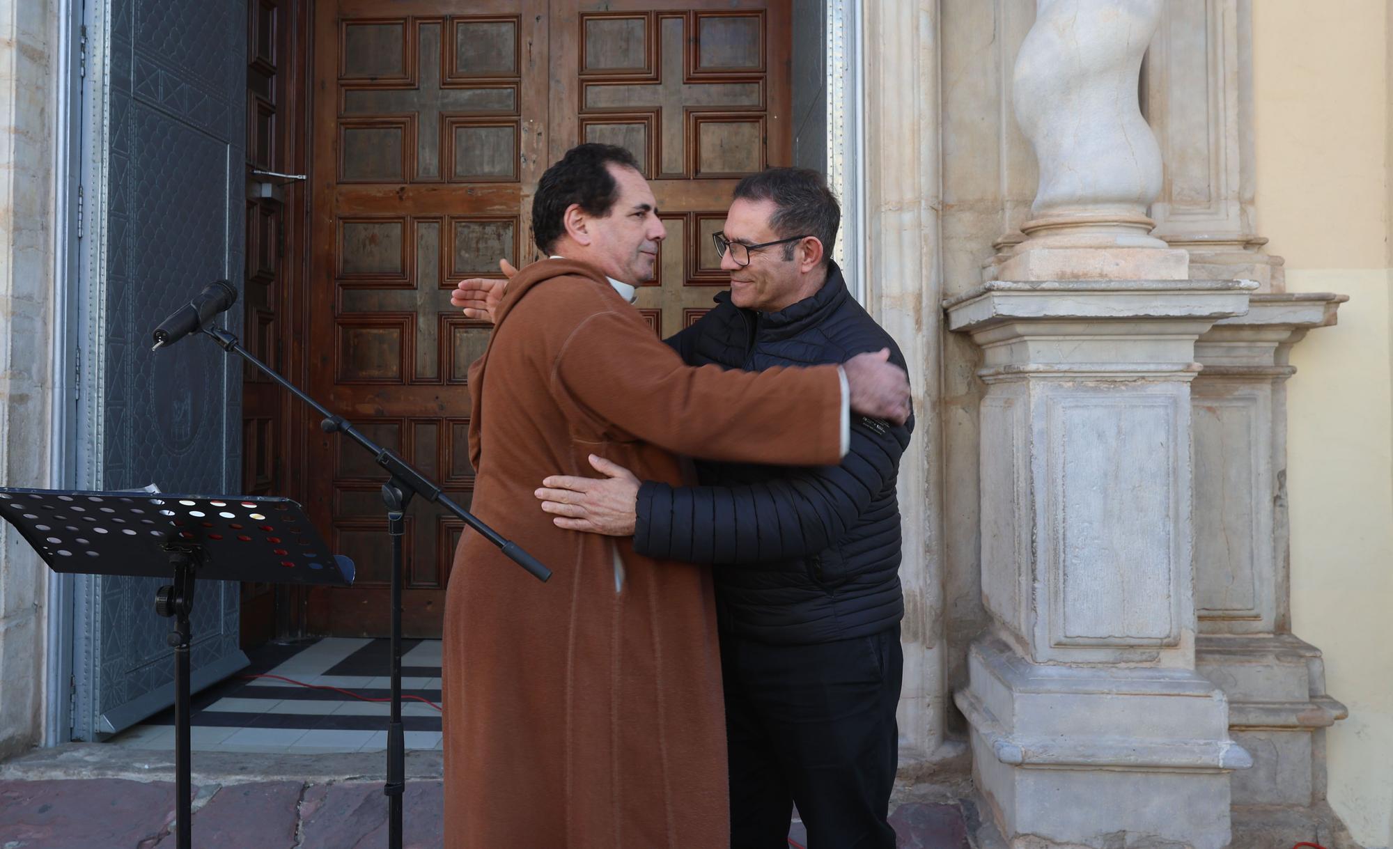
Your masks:
M107 342L107 210L111 173L111 65L116 0L57 0L54 57L61 64L54 110L56 330L52 351L54 394L50 424L53 486L100 489L104 472ZM120 71L120 65L117 65ZM77 95L81 92L81 95ZM233 237L231 232L227 234ZM221 270L223 277L228 269ZM224 437L226 445L226 437ZM100 633L88 626L100 614L100 578L50 576L45 622L45 743L74 736L102 739L170 701L156 688L104 717L96 710L95 653ZM221 590L213 590L221 592ZM245 665L240 651L195 667L196 692ZM173 686L173 685L167 685ZM169 690L173 693L173 690ZM114 717L114 718L113 718Z

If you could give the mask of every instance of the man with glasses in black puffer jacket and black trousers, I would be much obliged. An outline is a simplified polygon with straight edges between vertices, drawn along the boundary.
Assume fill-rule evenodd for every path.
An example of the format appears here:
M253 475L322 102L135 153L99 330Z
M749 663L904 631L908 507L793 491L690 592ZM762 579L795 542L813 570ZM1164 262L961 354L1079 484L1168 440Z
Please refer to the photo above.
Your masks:
M667 340L690 365L763 370L904 358L827 259L840 210L815 171L770 168L736 188L715 235L731 291ZM699 486L549 477L557 525L634 536L639 554L715 566L733 849L787 846L794 803L812 848L894 846L903 657L904 426L851 418L839 466L696 463ZM657 611L656 615L662 615Z

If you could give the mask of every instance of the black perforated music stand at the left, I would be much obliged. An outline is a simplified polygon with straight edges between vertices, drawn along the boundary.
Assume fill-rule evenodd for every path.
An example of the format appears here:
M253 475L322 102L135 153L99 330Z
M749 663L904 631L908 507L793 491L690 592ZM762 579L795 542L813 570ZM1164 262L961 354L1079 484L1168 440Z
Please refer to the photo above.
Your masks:
M0 518L54 572L173 578L155 611L174 618L176 846L192 839L189 614L195 580L351 585L354 566L330 554L290 498L93 493L0 487Z

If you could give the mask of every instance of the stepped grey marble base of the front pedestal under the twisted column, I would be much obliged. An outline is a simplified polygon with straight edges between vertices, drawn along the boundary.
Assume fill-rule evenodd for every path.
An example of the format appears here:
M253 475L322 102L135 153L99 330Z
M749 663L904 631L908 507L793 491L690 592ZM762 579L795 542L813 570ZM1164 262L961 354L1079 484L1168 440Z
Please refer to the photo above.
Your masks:
M956 701L1011 849L1229 845L1229 774L1251 759L1195 672L1032 664L988 637Z

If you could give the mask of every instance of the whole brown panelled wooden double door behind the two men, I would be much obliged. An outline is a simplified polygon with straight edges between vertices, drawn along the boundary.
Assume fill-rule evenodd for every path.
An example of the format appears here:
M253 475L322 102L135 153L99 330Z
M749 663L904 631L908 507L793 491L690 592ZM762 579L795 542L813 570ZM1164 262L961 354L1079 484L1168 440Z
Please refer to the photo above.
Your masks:
M695 320L726 285L710 234L736 181L791 159L788 32L790 0L319 0L313 394L468 507L467 370L489 328L450 306L456 281L538 259L536 181L607 142L634 152L667 227L638 308L659 335ZM312 438L308 463L316 523L358 564L352 589L311 592L309 629L384 633L382 473L341 438ZM412 505L410 635L439 635L462 532Z

